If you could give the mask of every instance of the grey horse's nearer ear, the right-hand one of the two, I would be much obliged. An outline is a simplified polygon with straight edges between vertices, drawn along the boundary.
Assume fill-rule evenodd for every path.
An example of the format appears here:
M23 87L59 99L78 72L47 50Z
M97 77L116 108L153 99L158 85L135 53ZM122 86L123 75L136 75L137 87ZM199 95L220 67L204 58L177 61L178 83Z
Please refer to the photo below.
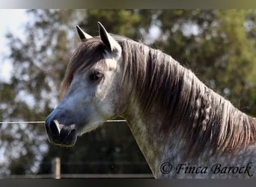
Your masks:
M121 46L118 42L106 31L106 28L100 22L97 22L99 26L100 38L107 46L110 52L121 52Z

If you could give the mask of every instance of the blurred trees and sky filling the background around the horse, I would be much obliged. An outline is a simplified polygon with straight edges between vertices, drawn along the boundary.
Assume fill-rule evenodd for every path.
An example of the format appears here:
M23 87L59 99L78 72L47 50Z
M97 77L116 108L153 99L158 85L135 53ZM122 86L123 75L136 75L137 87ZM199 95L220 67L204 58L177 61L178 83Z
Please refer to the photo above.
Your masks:
M256 10L242 9L1 9L0 178L51 177L55 158L61 161L62 176L150 177L125 122L106 123L70 148L49 144L43 123L23 123L43 121L58 104L68 58L79 43L76 25L98 35L100 21L113 34L161 49L241 111L255 116L255 19Z

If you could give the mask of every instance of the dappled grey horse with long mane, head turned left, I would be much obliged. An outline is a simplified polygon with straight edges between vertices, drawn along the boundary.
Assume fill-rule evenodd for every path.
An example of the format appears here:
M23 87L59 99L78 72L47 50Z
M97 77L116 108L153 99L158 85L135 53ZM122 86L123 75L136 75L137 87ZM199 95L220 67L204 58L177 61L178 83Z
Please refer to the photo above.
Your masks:
M61 101L46 118L52 144L121 116L155 178L256 177L256 121L170 55L127 37L76 26Z

